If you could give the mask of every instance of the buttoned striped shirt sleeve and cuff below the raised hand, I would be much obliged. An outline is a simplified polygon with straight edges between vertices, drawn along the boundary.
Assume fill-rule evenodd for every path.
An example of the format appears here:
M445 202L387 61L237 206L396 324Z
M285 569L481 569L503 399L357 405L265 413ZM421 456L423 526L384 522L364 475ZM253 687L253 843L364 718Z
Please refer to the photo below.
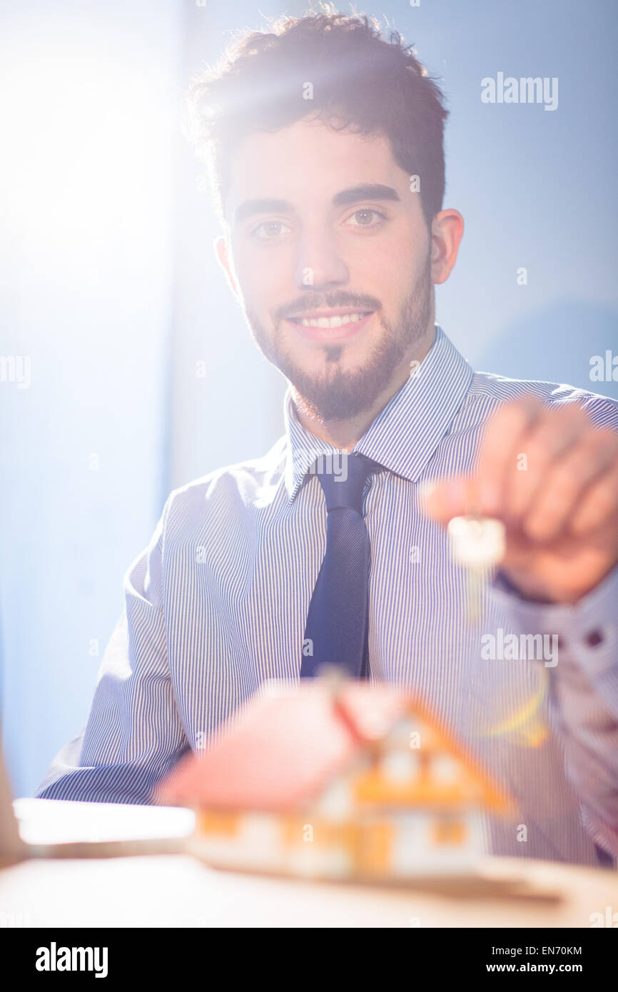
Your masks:
M592 840L618 857L618 567L574 606L530 602L499 575L493 596L516 630L557 636L550 716Z

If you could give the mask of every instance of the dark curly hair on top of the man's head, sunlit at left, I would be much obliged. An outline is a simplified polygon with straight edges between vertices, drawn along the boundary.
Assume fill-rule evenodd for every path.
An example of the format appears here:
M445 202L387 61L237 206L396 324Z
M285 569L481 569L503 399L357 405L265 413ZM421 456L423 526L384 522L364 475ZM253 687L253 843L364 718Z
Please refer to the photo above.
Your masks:
M428 224L441 209L443 95L401 35L391 32L385 40L369 17L313 13L253 32L195 80L188 107L188 136L210 167L221 209L239 142L309 115L385 135L399 165L420 177Z

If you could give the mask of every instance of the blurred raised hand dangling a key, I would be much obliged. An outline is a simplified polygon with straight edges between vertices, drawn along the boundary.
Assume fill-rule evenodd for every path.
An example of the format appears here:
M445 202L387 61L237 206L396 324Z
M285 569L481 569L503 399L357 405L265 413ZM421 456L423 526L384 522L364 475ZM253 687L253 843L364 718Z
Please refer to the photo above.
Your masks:
M618 561L618 434L574 404L535 397L487 424L477 474L436 483L430 516L480 513L506 526L501 571L528 599L575 603Z

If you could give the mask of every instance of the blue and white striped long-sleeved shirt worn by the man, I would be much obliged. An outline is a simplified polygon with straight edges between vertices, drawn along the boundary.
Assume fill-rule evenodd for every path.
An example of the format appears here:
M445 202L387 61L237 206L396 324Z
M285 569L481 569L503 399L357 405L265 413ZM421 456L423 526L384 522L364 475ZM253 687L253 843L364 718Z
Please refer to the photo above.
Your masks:
M472 624L466 576L421 509L422 484L472 470L487 419L524 394L576 403L618 430L612 400L475 373L436 326L421 366L356 444L381 466L364 494L371 678L420 694L515 799L514 817L487 819L488 850L595 864L618 854L618 569L574 607L525 602L498 577ZM126 573L85 729L39 796L153 802L179 758L216 739L265 680L299 677L326 536L309 468L338 452L301 425L290 391L284 413L264 457L168 498ZM504 648L553 635L557 664Z

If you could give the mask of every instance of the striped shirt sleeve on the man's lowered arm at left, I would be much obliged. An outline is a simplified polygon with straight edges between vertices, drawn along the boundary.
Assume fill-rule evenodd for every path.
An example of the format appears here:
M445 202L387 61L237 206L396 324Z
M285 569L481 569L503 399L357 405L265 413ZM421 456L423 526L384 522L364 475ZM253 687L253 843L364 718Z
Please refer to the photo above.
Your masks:
M54 759L40 798L153 803L158 782L188 750L166 648L162 555L169 504L124 577L125 609L105 649L85 729Z

